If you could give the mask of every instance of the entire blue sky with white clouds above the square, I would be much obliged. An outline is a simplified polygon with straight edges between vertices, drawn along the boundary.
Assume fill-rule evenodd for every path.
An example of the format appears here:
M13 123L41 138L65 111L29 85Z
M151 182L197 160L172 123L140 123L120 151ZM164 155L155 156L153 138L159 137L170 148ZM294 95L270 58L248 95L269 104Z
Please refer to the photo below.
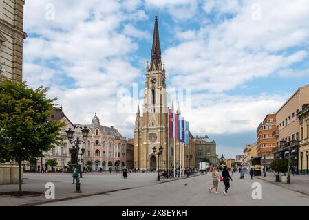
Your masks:
M242 154L309 82L308 0L28 0L24 80L50 87L74 123L96 112L132 137L156 11L167 87L191 94L182 115L219 155Z

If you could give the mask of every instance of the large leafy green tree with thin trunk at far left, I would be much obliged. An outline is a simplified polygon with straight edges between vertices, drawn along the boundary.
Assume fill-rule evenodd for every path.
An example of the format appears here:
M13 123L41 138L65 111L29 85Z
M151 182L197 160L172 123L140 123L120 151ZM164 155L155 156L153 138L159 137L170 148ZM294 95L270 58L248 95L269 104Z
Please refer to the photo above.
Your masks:
M47 91L10 80L0 85L0 162L19 164L19 192L21 163L43 157L42 151L60 144L58 132L63 124L47 120L56 100L46 98Z

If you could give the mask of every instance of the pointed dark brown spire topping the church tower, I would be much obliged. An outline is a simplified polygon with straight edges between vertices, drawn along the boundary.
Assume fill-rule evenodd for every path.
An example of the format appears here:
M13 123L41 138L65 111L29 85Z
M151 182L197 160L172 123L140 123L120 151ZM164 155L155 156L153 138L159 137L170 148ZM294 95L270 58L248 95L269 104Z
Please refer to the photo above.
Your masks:
M156 12L155 27L153 30L150 67L152 68L154 64L156 68L158 68L158 64L160 62L161 62L161 49L160 49L159 28L158 28L158 12Z

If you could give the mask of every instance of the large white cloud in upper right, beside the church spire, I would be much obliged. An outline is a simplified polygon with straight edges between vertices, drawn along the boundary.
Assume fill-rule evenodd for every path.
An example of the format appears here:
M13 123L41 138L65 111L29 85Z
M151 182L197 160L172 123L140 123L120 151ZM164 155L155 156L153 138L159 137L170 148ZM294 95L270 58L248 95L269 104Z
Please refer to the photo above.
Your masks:
M235 16L202 26L193 38L176 34L182 43L163 54L173 87L228 91L308 58L309 1L262 1L261 20L253 19L257 1L207 2L208 11L223 4L222 16Z

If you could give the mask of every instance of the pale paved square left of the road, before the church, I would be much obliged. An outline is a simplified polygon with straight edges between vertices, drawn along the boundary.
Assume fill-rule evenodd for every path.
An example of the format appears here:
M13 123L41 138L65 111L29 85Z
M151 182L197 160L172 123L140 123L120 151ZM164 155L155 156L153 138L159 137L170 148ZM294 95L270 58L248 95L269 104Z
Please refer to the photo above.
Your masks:
M117 174L117 175L116 175ZM192 175L191 177L200 174ZM72 174L65 173L25 173L23 178L23 190L43 192L44 195L36 197L6 197L0 195L0 206L31 206L35 204L50 203L54 201L65 201L68 199L76 199L88 197L91 195L100 195L108 192L119 190L127 190L130 188L140 188L144 186L152 186L163 184L168 181L175 181L187 178L178 177L171 179L161 179L157 181L157 173L128 173L128 178L123 179L122 173L85 173L81 178L81 191L78 194L75 191L75 184L72 184ZM45 184L52 182L55 185L55 199L45 198ZM0 185L0 192L17 191L18 185Z

